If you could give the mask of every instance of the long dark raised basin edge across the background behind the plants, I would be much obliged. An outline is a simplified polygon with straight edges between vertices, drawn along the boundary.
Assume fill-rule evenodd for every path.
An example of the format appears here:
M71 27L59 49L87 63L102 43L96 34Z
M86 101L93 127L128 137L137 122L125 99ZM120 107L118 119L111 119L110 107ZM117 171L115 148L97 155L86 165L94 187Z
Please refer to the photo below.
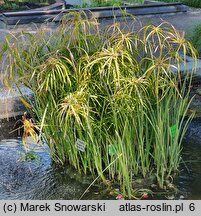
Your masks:
M59 0L60 1L60 0ZM64 4L64 3L63 3ZM59 22L63 15L70 12L85 11L86 14L91 16L91 13L95 18L111 18L125 16L125 12L135 15L154 15L154 14L167 14L167 13L178 13L187 12L188 6L182 3L156 3L143 5L123 5L120 7L96 7L96 8L75 8L75 9L55 9L50 10L29 10L20 12L7 12L3 13L1 20L6 25L16 24L28 24L28 23L42 23L42 22Z

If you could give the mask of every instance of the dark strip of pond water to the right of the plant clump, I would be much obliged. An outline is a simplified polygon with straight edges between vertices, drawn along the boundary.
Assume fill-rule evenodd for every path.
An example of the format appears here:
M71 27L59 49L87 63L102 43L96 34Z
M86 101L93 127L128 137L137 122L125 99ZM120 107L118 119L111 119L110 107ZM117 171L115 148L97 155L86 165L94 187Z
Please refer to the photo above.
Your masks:
M175 183L187 199L201 200L201 118L194 119L188 126L182 159L180 176Z

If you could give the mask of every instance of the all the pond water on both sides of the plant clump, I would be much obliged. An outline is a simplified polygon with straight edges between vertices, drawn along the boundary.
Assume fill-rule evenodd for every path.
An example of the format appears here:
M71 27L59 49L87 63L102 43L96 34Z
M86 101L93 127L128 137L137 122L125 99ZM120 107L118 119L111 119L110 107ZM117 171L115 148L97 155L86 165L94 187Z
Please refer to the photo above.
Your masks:
M180 175L174 196L155 195L152 199L201 199L201 121L189 127L183 149ZM29 140L29 158L20 138L0 141L0 199L79 199L92 182L69 167L55 166L46 146ZM34 160L31 157L34 156ZM115 199L100 185L94 185L83 199Z

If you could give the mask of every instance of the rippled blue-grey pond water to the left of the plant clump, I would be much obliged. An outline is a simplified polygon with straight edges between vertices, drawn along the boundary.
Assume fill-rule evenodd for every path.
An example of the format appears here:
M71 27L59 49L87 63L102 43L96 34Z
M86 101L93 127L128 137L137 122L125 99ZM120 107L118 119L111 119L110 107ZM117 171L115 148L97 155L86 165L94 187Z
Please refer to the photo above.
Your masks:
M26 159L20 138L0 141L0 199L79 199L92 179L68 167L55 166L47 147L29 146L33 154ZM94 185L84 198L109 199L97 187Z

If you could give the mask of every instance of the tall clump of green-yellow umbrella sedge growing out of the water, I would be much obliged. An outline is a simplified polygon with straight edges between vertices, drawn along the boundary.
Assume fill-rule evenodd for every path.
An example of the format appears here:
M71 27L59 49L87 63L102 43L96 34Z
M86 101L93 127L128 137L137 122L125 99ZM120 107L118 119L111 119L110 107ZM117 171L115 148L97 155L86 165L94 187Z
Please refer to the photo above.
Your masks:
M169 23L100 28L71 13L53 33L8 36L1 51L5 81L33 91L23 101L56 163L117 182L129 198L138 176L164 188L177 172L192 118L184 123L191 75L180 64L195 54Z

